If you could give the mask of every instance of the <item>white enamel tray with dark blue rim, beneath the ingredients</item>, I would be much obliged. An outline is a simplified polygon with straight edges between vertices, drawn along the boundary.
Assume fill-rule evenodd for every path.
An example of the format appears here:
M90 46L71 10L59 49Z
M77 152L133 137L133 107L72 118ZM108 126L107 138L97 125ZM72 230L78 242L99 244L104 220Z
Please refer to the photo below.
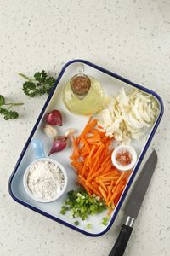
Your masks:
M69 213L62 215L60 214L60 208L65 202L66 194L71 189L76 189L76 173L73 170L73 168L70 165L71 160L69 159L69 156L72 153L72 146L71 143L68 145L65 150L52 154L51 158L54 160L58 160L64 167L68 175L68 186L65 191L65 194L62 195L59 200L51 202L51 203L41 203L37 202L31 199L26 194L26 191L23 186L23 175L26 171L26 167L31 164L33 160L35 160L35 155L33 154L33 150L31 148L31 139L41 139L44 145L45 153L48 155L48 151L51 147L51 143L46 137L46 135L42 132L42 125L44 125L44 115L46 113L49 113L53 109L59 109L63 115L63 126L59 127L59 133L62 135L64 134L64 131L68 128L76 128L77 134L81 133L84 125L88 122L88 117L79 116L70 113L66 108L64 103L62 102L62 90L66 84L66 82L71 79L75 74L77 74L77 67L82 64L84 66L84 73L87 75L91 75L97 80L99 80L99 83L102 84L105 95L115 96L119 90L121 90L122 87L126 87L128 89L132 89L133 87L139 88L139 90L143 90L153 96L155 96L156 101L159 104L160 107L160 113L158 114L158 117L156 119L155 124L153 125L152 129L150 130L147 139L145 142L136 142L133 141L131 143L133 145L133 148L136 149L138 154L138 162L136 166L133 169L133 172L131 176L129 177L127 186L122 191L122 196L120 200L118 201L116 208L114 212L112 212L111 219L107 226L104 226L102 223L102 218L106 216L106 212L103 212L101 214L96 214L94 216L90 216L87 220L82 221L81 219L75 219L70 218ZM60 224L65 224L66 226L77 230L85 235L88 236L101 236L103 235L107 230L111 228L111 225L113 224L117 212L119 211L120 207L122 206L122 202L124 201L127 190L133 183L133 178L135 177L135 174L137 173L140 163L144 158L144 154L147 150L147 148L150 145L150 141L152 137L154 136L156 132L156 128L160 123L161 116L163 114L163 103L161 101L160 96L158 96L154 91L148 90L144 87L142 87L139 84L134 84L133 82L124 79L115 73L112 73L102 67L96 66L93 63L90 63L88 61L83 60L74 60L70 61L65 64L65 66L62 68L61 72L59 73L59 78L56 80L54 84L54 89L52 90L51 94L48 96L47 101L44 104L44 107L42 108L42 112L40 113L37 123L34 126L33 130L31 131L31 135L28 138L26 145L24 149L22 150L20 154L20 158L16 163L16 166L14 167L14 172L12 173L9 183L8 183L8 190L10 195L13 197L14 201L19 202L20 204L24 205L25 207L30 208L31 210L34 210L36 212L41 213L42 215L54 219L54 221L59 222ZM74 224L75 220L78 220L80 224L76 226ZM93 224L93 228L88 230L87 224Z

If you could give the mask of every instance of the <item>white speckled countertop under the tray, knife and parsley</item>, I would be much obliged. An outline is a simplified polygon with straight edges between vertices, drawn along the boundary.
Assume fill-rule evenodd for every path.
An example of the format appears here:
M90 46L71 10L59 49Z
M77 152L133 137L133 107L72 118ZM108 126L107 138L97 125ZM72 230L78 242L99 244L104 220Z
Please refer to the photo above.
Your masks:
M17 204L8 194L13 171L46 96L29 99L22 79L59 73L82 58L143 84L162 97L164 117L150 148L159 162L124 255L170 252L170 2L162 0L0 0L0 93L25 102L20 119L0 117L0 255L105 256L121 228L90 238Z

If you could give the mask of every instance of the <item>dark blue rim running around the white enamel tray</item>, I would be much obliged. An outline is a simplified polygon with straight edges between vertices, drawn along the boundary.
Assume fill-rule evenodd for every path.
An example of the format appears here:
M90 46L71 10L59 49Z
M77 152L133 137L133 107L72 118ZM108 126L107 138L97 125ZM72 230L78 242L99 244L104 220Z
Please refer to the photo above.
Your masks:
M15 172L17 171L18 167L20 166L20 162L21 162L22 158L24 157L24 155L25 155L25 153L26 153L26 149L28 148L28 145L29 145L29 143L31 142L31 138L32 138L33 135L34 135L34 132L37 130L37 125L39 124L40 120L42 119L42 115L43 115L43 113L45 112L46 108L48 107L48 103L49 103L51 97L52 97L53 94L54 94L54 90L56 89L57 85L59 84L59 80L61 79L62 75L65 73L65 69L66 69L68 66L70 66L72 63L75 63L75 62L82 62L82 63L84 63L84 64L86 64L86 65L88 65L88 66L90 66L90 67L94 67L95 69L98 69L98 70L101 71L102 73L106 73L106 74L110 75L111 77L114 77L114 78L116 78L116 79L119 79L119 80L121 80L122 82L125 82L125 83L127 83L127 84L130 84L130 85L132 85L133 87L138 88L139 90L143 90L144 92L147 92L147 93L149 93L149 94L155 96L156 99L157 99L157 101L160 103L160 108L161 108L161 109L160 109L160 114L159 114L158 118L156 119L156 124L154 125L154 127L152 128L152 131L150 132L150 137L148 138L147 143L145 144L144 149L143 149L143 151L141 152L141 154L140 154L140 156L139 156L138 163L137 163L137 165L135 166L135 168L134 168L134 170L133 170L133 172L132 172L132 175L131 175L131 177L129 178L129 181L128 181L128 183L127 183L127 186L126 186L126 188L124 189L124 191L123 191L123 193L122 193L122 197L121 197L119 203L118 203L117 206L116 206L116 209L115 209L115 211L114 211L114 214L113 214L113 216L112 216L112 218L111 218L111 222L110 222L110 224L105 228L105 230L103 230L102 232L100 232L100 233L98 233L98 234L93 234L93 233L89 233L89 232L87 232L87 231L85 231L85 230L81 230L81 229L77 228L76 226L74 226L74 225L72 225L72 224L69 224L69 223L67 223L67 222L65 222L65 221L63 221L63 220L61 220L60 218L56 218L56 217L54 217L54 216L48 214L47 212L41 211L41 210L38 209L37 207L32 207L31 205L27 204L26 202L21 201L20 199L18 199L17 197L15 197L15 195L13 194L13 191L12 191L12 189L11 189L11 183L12 183L14 174L15 174ZM137 173L138 170L139 170L139 166L140 166L142 160L144 159L144 154L146 153L147 149L148 149L149 146L150 146L150 142L151 142L152 138L154 137L154 134L155 134L155 132L156 132L156 129L157 129L157 127L158 127L158 125L159 125L159 123L160 123L160 121L161 121L161 117L162 117L162 115L163 115L163 112L164 112L163 102L162 102L162 100L161 100L161 97L158 96L155 91L152 91L152 90L150 90L150 89L144 88L142 85L135 84L135 83L131 82L130 80L125 79L125 78L122 78L121 76L117 75L116 73L113 73L113 72L111 72L111 71L109 71L109 70L107 70L107 69L105 69L105 68L103 68L103 67L99 67L99 66L97 66L97 65L95 65L94 63L91 63L91 62L89 62L89 61L85 61L85 60L82 60L82 59L76 59L76 60L67 62L67 63L65 64L65 66L61 69L61 72L59 73L59 77L58 77L58 79L56 79L56 81L55 81L55 83L54 83L54 88L51 90L51 92L50 92L50 94L49 94L49 96L48 96L48 99L47 99L47 101L45 102L45 104L44 104L44 106L43 106L43 108L42 108L42 111L41 111L41 113L39 114L39 116L38 116L38 118L37 118L37 122L36 122L36 124L34 125L32 131L31 131L31 134L30 134L30 136L28 137L28 139L27 139L27 141L26 141L26 145L25 145L25 147L23 148L23 150L22 150L22 152L21 152L21 154L20 154L20 157L19 157L19 159L18 159L17 162L16 162L16 165L14 166L14 171L12 172L11 176L9 177L9 181L8 181L8 191L9 191L9 194L12 196L12 198L14 199L14 201L17 201L18 203L22 204L23 206L28 207L28 208L30 208L31 210L35 211L35 212L41 213L42 215L44 215L44 216L46 216L46 217L48 217L48 218L51 218L51 219L53 219L54 221L59 222L60 224L64 224L65 226L67 226L67 227L69 227L69 228L71 228L71 229L73 229L73 230L77 230L78 232L81 232L81 233L84 234L84 235L87 235L87 236L102 236L102 235L104 235L108 230L111 229L111 226L112 226L112 224L113 224L114 221L115 221L116 215L117 215L117 213L119 212L120 208L122 207L122 202L124 201L124 199L125 199L125 197L126 197L126 195L127 195L127 191L128 191L128 189L130 188L131 184L133 183L133 179L134 179L136 173Z

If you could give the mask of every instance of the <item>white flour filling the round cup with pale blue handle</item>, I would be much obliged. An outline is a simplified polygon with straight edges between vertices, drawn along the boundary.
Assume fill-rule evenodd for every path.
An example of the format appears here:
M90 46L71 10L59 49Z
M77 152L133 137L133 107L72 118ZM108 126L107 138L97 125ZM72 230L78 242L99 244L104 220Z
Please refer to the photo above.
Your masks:
M28 188L37 198L52 199L63 189L65 177L59 166L49 161L37 161L29 168Z

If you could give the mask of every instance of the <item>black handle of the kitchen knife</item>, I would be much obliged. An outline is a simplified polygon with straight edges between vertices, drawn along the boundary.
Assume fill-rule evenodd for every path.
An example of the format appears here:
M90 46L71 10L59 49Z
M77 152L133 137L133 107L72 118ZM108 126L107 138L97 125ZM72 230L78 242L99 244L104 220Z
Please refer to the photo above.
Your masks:
M116 243L111 250L109 256L122 256L126 247L127 242L130 238L133 228L125 224L122 225L122 230L116 239Z

